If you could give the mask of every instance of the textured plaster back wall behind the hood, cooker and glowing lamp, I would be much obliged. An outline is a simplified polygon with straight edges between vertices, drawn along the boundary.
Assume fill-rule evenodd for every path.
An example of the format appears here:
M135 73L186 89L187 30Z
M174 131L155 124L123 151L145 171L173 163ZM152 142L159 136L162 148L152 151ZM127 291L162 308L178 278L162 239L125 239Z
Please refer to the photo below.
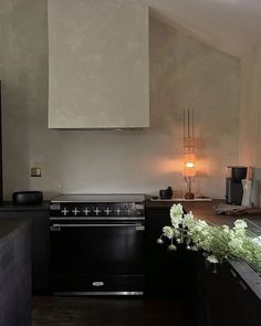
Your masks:
M194 190L225 194L226 166L238 164L239 62L150 20L150 125L146 130L48 129L45 0L0 2L3 80L4 194L145 192L181 176L182 107L195 109L197 179ZM33 165L41 178L31 178Z

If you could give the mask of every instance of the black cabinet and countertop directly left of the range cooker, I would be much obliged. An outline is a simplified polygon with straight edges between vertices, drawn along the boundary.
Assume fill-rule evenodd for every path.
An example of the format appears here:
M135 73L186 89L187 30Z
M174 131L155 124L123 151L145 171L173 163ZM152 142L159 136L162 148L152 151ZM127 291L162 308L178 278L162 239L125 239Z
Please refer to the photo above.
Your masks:
M32 292L49 292L49 203L39 206L14 206L6 202L0 206L0 219L21 219L32 225Z

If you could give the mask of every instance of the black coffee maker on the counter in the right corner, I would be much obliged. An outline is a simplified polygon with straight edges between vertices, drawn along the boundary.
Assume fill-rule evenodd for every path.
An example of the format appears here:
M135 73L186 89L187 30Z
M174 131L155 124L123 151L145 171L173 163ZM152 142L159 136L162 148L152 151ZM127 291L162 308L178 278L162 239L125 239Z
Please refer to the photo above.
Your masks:
M243 197L242 180L247 178L248 168L229 166L226 178L226 201L230 204L241 204Z

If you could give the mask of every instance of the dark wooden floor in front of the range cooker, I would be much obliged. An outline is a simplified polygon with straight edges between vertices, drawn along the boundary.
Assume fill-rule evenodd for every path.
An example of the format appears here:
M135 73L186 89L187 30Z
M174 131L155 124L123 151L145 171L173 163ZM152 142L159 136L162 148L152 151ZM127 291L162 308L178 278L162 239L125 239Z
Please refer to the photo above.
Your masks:
M33 298L32 326L196 326L186 301L48 297Z

